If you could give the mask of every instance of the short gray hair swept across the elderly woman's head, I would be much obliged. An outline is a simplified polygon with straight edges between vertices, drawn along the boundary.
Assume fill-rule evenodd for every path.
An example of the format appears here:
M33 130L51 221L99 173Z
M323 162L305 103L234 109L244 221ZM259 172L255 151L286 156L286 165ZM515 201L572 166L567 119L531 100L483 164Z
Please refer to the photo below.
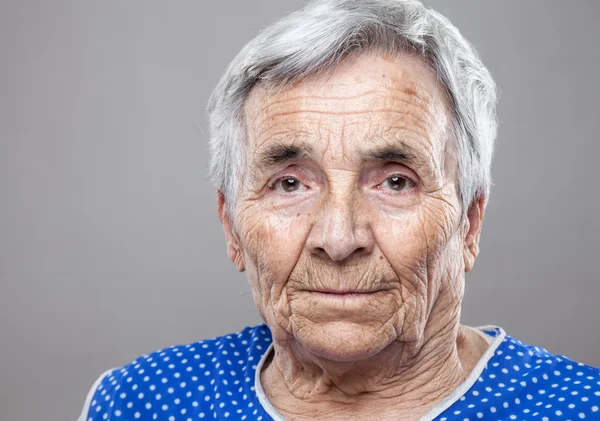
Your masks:
M230 215L244 176L243 108L251 89L284 89L366 51L418 55L433 70L452 108L463 216L475 199L487 205L496 85L459 30L416 0L314 0L246 44L209 100L210 176Z

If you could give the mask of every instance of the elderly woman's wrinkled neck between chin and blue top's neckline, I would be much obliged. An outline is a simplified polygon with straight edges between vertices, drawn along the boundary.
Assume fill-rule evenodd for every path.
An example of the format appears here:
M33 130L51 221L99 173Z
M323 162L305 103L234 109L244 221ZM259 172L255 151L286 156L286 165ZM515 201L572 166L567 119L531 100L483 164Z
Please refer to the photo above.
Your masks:
M434 313L430 320L443 317ZM399 337L361 361L326 360L293 339L275 341L261 373L265 393L289 420L319 413L327 419L372 419L374 408L378 419L386 412L396 420L418 419L465 380L487 348L459 324L460 311L446 309L449 313L450 320L427 324L421 340Z

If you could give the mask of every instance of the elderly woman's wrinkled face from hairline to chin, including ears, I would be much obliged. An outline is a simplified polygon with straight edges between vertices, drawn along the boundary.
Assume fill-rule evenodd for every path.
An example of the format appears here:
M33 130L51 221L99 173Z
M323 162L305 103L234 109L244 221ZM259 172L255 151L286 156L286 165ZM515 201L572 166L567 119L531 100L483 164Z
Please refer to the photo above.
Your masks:
M245 112L224 226L276 341L355 361L458 317L475 256L447 103L418 58L365 55L277 94L258 86Z

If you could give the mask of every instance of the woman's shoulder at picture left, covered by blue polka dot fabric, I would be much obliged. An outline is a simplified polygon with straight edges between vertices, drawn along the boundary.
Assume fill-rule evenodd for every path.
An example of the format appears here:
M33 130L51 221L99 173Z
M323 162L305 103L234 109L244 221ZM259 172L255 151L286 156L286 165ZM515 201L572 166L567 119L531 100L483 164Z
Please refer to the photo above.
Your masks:
M265 325L144 354L105 372L90 390L80 421L169 419L209 410L212 391L254 384L256 364L271 343ZM217 397L218 398L218 397ZM160 418L158 418L160 416Z

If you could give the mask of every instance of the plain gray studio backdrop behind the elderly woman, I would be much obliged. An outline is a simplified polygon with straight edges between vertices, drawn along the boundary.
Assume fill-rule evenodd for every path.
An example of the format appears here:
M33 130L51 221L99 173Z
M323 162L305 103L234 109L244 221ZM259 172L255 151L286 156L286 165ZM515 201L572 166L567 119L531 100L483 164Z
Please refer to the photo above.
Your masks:
M104 370L259 321L204 109L271 1L0 5L0 418L75 419ZM430 0L501 88L465 323L600 366L600 2Z

